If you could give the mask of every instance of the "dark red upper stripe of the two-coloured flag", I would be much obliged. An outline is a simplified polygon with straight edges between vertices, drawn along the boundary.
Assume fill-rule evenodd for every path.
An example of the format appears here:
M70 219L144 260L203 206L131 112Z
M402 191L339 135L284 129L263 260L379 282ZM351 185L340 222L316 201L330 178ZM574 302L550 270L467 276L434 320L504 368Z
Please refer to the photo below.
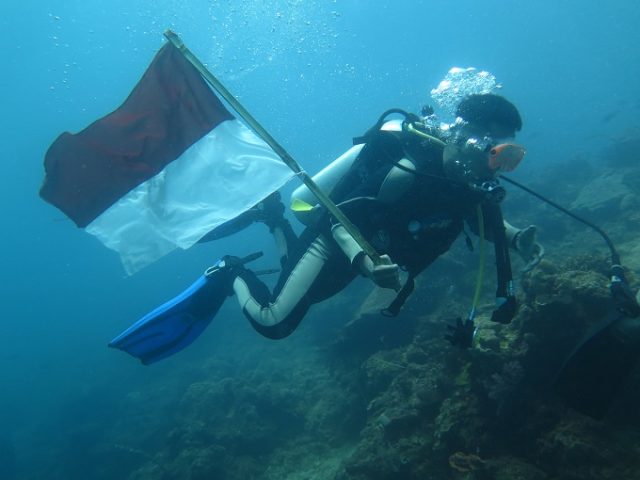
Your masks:
M167 43L125 102L45 156L43 199L85 227L233 116L198 71Z

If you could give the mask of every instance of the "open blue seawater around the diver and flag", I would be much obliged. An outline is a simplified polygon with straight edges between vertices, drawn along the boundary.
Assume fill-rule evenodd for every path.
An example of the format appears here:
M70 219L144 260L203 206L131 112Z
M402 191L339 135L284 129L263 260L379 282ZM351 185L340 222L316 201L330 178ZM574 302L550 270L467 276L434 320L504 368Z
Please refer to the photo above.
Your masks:
M518 105L519 141L528 155L515 178L523 181L598 151L637 127L640 114L640 4L628 0L25 0L3 2L0 11L0 478L6 480L232 478L212 467L198 476L194 465L207 459L186 450L191 470L163 465L180 457L172 451L183 445L179 432L206 419L190 416L192 410L221 421L215 413L221 396L199 405L211 390L198 386L238 376L250 378L249 390L282 385L274 377L290 374L293 359L316 361L324 338L314 334L319 318L273 343L251 331L235 305L226 305L188 351L158 365L142 367L106 348L225 253L264 249L260 265L277 264L265 231L252 227L233 241L176 252L127 277L116 254L38 197L47 147L61 132L79 131L117 108L162 46L166 28L309 171L346 150L382 111L419 111L453 66L489 70ZM288 394L279 398L286 405ZM267 417L273 412L276 423L284 415L282 405L242 402L235 405L247 418L256 408ZM292 426L281 445L304 428L300 418L286 417ZM242 443L247 457L266 458L260 445L268 440L249 437ZM230 462L216 438L210 464ZM251 472L244 478L276 478ZM241 467L236 474L242 478Z

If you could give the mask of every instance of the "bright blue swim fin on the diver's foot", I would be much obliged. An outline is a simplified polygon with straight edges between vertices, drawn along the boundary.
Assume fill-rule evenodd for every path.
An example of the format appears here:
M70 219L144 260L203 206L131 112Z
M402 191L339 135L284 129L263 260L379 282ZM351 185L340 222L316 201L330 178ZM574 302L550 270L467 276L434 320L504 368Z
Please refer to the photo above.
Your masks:
M139 358L144 365L179 352L204 331L233 294L237 267L261 255L223 257L184 292L146 314L109 346Z

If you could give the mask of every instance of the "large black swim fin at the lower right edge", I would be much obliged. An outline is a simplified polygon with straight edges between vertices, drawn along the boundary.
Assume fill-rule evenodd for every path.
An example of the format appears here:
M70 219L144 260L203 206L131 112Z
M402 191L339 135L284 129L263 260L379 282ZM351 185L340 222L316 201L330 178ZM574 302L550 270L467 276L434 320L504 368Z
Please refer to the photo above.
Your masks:
M640 342L616 328L625 319L632 320L611 312L573 351L554 382L568 406L597 420L605 416L640 359Z

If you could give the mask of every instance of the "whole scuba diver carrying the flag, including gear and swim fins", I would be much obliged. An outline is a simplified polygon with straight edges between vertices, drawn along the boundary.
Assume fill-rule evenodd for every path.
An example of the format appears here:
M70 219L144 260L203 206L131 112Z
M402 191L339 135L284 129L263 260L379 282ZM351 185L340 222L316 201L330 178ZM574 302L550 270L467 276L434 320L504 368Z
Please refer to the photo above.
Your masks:
M392 114L404 118L387 120ZM395 316L413 290L414 278L461 233L468 238L465 224L494 243L498 288L492 320L509 323L516 312L509 250L518 252L529 269L544 254L536 227L518 229L503 220L500 210L505 191L497 175L516 168L525 154L523 147L510 143L522 119L511 102L491 93L464 98L453 125L437 125L431 114L385 112L364 136L354 139L349 151L314 177L381 254L378 258L365 253L304 186L292 195L294 214L306 225L296 236L276 192L203 238L227 236L254 221L266 224L282 268L273 291L258 278L260 272L244 266L255 256L223 257L190 289L143 317L110 346L153 363L191 343L231 295L256 331L284 338L313 304L337 294L359 275L397 291L382 312ZM404 285L401 270L407 272ZM471 346L472 315L449 329L446 338L453 345Z

